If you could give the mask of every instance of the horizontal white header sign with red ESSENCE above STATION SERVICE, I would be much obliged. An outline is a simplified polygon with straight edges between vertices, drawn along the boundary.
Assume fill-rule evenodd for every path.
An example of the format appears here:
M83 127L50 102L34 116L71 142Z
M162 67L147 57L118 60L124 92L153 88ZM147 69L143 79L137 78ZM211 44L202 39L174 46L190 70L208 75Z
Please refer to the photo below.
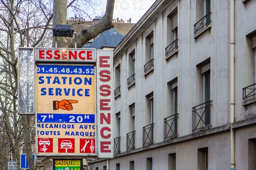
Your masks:
M35 49L35 60L41 62L95 63L95 49Z

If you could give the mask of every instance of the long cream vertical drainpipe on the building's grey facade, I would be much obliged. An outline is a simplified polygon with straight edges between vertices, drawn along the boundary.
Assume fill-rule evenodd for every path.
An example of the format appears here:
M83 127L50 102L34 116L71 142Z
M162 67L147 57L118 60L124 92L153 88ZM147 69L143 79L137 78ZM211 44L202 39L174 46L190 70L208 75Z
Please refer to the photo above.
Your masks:
M230 3L230 124L235 120L235 0ZM230 127L230 170L235 170L235 130Z

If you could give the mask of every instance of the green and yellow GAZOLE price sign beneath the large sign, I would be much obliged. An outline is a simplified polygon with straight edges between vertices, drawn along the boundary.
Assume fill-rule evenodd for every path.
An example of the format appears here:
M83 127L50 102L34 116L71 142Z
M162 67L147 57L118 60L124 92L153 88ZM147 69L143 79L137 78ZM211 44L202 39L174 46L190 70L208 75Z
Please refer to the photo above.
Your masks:
M82 159L53 159L53 170L83 170Z

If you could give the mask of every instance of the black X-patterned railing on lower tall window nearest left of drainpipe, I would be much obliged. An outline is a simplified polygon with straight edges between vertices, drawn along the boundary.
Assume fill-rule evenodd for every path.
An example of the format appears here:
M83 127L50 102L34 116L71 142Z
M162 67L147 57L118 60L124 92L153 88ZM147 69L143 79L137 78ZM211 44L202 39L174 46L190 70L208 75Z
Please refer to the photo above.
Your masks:
M207 101L192 107L192 133L195 130L206 130L211 128L211 106L212 101Z

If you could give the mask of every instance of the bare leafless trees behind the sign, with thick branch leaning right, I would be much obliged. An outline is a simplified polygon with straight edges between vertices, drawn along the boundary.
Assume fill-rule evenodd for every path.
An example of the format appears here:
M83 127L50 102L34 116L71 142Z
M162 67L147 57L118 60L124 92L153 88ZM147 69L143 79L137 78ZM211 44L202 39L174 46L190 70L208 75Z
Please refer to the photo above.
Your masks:
M67 8L76 10L78 0L0 0L0 169L7 161L17 161L26 152L29 170L34 170L31 138L35 135L33 116L17 115L17 47L50 47L52 27L66 24ZM53 5L53 8L52 8ZM106 12L99 22L84 28L77 47L112 26L114 0L108 0ZM88 15L89 16L89 15ZM74 47L74 39L58 39L59 47ZM20 169L20 168L19 168Z

